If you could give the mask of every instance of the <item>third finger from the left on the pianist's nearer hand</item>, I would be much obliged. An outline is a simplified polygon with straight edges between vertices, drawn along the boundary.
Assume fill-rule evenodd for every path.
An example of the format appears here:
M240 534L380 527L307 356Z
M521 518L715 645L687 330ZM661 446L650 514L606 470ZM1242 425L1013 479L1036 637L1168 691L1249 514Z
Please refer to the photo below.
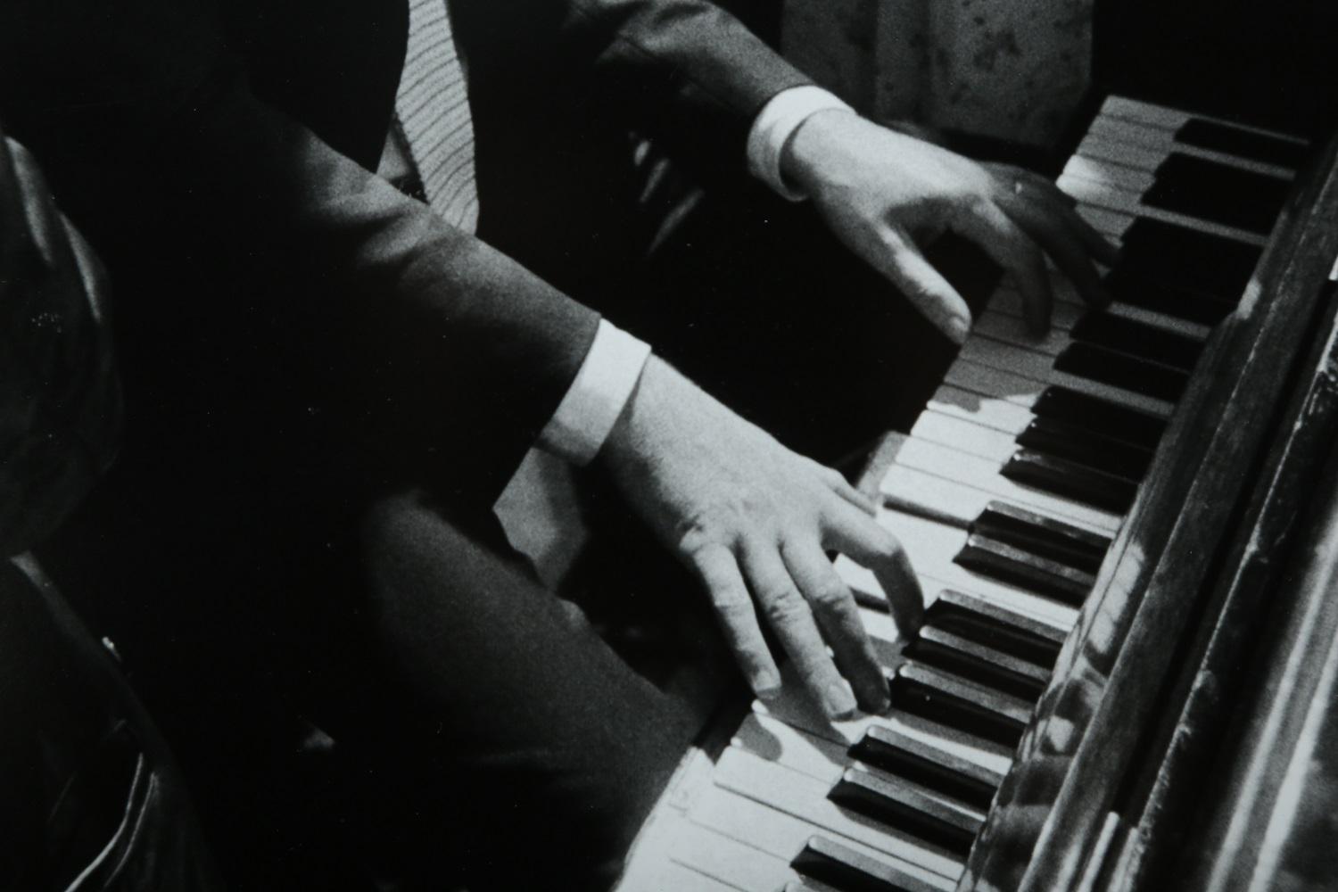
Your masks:
M818 627L836 655L836 667L855 690L859 705L870 713L884 711L890 705L887 678L859 618L855 596L836 575L832 562L816 542L799 536L785 539L781 558L808 599Z

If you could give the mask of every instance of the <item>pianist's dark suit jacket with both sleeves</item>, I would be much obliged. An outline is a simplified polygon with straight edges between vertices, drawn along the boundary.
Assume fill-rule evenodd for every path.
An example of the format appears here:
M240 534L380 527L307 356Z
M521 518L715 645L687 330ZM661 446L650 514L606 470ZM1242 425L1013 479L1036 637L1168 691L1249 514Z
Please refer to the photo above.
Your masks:
M698 0L452 16L480 163L488 134L543 132L561 92L741 175L752 118L804 82ZM597 316L368 173L405 27L403 0L5 0L0 118L120 286L131 409L136 384L163 416L217 388L290 392L393 433L405 467L491 491Z

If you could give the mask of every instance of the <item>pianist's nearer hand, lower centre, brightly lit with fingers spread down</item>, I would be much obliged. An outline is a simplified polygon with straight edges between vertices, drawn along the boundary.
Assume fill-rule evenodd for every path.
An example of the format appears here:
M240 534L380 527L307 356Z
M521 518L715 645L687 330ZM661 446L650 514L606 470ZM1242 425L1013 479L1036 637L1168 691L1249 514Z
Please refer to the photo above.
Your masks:
M867 711L887 709L874 647L826 551L876 572L903 635L918 629L923 600L900 544L836 471L791 452L653 356L599 461L701 579L759 697L780 689L760 617L830 717L854 713L856 698Z

